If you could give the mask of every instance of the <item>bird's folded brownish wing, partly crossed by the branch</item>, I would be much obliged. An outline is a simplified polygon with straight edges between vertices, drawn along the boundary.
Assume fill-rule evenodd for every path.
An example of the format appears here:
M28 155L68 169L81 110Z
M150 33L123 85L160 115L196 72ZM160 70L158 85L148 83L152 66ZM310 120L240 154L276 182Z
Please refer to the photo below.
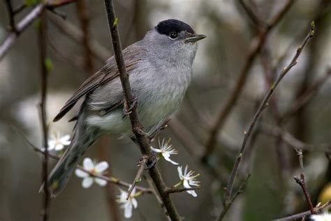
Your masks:
M126 71L130 73L133 69L133 66L135 66L135 64L137 64L141 59L145 58L145 50L143 50L139 44L135 43L123 50L123 57L126 62ZM93 76L85 80L85 82L82 83L82 85L73 94L73 96L68 101L66 101L64 107L61 108L60 112L54 117L53 122L57 122L64 115L66 115L66 113L68 113L68 111L71 110L77 101L85 94L92 92L96 88L100 87L100 85L108 83L118 76L119 71L117 69L115 58L110 57L110 59L107 60L105 66L103 66L103 68L98 72L94 73Z

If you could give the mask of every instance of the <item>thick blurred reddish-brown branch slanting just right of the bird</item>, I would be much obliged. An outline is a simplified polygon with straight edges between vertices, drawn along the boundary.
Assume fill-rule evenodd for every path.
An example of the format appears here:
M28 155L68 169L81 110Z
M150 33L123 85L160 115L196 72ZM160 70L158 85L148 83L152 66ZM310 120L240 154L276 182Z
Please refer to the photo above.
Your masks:
M221 111L219 112L218 117L216 117L216 122L214 126L212 127L209 138L207 139L207 143L205 145L205 153L203 154L202 161L206 162L207 157L212 153L212 151L215 148L216 145L216 137L219 134L219 131L222 129L224 123L226 122L226 118L231 113L231 110L237 103L237 99L239 99L240 94L242 92L242 89L244 88L244 85L247 80L247 76L249 73L249 70L251 69L251 66L253 65L253 62L257 55L260 53L260 50L263 48L263 45L265 43L265 39L270 34L270 31L276 26L276 24L279 23L281 18L285 15L285 13L290 9L290 6L294 3L294 0L288 0L283 8L275 15L271 22L260 31L260 34L256 36L251 42L251 45L249 48L249 53L247 55L246 62L240 71L240 76L237 79L237 83L235 84L235 88L233 92L230 93L230 97L228 97L226 104L223 106ZM256 43L256 41L258 41Z

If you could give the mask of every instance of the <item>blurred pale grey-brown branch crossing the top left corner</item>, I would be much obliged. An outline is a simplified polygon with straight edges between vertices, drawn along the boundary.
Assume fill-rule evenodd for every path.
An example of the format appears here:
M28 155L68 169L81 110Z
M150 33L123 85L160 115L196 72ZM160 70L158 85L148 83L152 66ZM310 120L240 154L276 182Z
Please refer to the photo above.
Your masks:
M16 31L11 31L5 41L0 45L0 61L3 59L4 55L6 55L6 52L11 48L13 43L17 40L18 36L22 34L22 32L27 29L27 27L36 20L37 17L41 15L43 10L45 8L57 8L59 6L64 6L68 3L71 3L75 0L63 0L63 1L54 1L54 3L39 3L27 16L25 16L20 22L16 24Z

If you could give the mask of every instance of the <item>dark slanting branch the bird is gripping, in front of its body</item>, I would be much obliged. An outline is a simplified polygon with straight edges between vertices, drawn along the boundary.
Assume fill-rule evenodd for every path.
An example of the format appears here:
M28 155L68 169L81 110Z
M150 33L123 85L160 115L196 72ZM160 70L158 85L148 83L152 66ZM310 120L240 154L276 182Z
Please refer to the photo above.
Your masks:
M145 133L143 132L142 124L140 124L139 122L138 113L135 110L135 106L133 106L133 104L135 103L135 97L133 96L133 93L131 91L131 85L128 78L128 73L126 72L126 68L124 64L121 41L119 38L119 32L117 30L118 19L115 15L114 6L111 0L105 0L105 9L107 12L110 34L112 36L112 46L114 48L117 68L120 73L119 78L121 80L123 87L125 106L126 108L131 109L129 113L129 117L131 121L132 131L133 134L135 134L135 138L140 145L140 152L142 153L142 155L147 156L147 162L148 162L153 159L153 155L149 148L150 144L148 138L145 136ZM149 176L151 176L154 184L156 185L156 189L159 191L163 204L165 208L167 208L171 220L181 220L177 212L177 209L175 208L175 204L170 199L169 194L167 194L164 191L166 185L161 177L161 173L156 168L156 166L152 166L152 168L149 169Z

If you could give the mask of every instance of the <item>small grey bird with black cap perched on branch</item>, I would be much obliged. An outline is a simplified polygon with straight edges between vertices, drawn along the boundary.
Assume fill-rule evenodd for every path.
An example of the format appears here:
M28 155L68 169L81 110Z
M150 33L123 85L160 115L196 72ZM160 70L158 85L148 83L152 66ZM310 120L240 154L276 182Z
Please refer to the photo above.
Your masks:
M146 134L152 134L175 113L191 83L197 42L206 36L182 21L169 19L147 31L142 40L123 50L136 110ZM89 77L54 117L54 122L84 98L71 144L47 178L52 197L64 190L86 150L104 134L134 137L124 113L124 94L115 57ZM43 190L43 186L41 187Z

